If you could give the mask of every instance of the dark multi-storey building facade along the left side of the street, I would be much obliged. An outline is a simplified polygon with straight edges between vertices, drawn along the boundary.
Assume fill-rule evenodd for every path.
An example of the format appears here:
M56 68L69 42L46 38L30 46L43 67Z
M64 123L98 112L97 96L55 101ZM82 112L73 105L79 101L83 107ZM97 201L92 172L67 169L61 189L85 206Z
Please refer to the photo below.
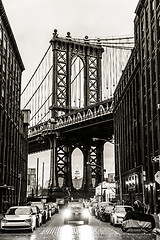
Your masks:
M0 212L25 204L27 192L28 111L20 110L24 65L0 1Z

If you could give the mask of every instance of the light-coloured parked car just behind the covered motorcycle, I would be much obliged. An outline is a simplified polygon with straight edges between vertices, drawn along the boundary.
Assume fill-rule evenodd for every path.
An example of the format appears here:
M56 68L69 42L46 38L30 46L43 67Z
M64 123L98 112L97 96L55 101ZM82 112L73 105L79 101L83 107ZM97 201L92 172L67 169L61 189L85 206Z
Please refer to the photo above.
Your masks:
M134 211L133 207L128 205L115 205L110 215L110 224L113 224L113 226L121 225L128 211Z

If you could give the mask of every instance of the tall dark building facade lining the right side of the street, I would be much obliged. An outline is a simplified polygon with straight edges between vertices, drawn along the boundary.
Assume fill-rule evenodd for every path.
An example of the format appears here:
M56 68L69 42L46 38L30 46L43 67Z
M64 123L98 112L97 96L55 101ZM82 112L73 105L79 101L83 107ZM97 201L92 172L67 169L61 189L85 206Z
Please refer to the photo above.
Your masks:
M116 179L119 196L160 211L155 181L160 155L160 1L140 0L135 47L114 93ZM121 184L120 184L121 183Z

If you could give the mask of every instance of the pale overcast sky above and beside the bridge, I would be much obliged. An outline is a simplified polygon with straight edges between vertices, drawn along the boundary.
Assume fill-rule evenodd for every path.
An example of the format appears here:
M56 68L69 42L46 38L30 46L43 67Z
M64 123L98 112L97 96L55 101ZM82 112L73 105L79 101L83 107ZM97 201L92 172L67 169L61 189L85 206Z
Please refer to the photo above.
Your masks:
M133 35L138 0L2 0L14 33L25 71L22 85L29 81L52 38L71 32L72 37L107 38ZM111 148L111 149L110 149ZM45 162L45 181L49 177L49 153L29 156L29 166L35 158ZM31 163L34 159L34 164ZM107 172L113 171L113 148L105 148ZM41 167L42 168L42 167ZM40 170L41 171L41 170ZM41 180L40 180L41 181Z

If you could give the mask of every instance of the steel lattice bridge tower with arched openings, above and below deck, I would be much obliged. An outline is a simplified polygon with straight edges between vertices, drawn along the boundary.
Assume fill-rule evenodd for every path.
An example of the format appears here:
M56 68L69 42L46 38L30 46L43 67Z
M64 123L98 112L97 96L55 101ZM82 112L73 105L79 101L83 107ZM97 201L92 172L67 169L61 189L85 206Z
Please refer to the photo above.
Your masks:
M102 100L101 59L103 48L71 38L60 38L54 30L51 40L53 51L53 84L51 122L54 125L61 114L83 109ZM73 74L74 72L74 74ZM74 77L73 77L74 76ZM87 131L87 129L86 129ZM103 180L103 145L74 133L59 131L48 135L51 149L50 196L91 197L94 187ZM83 154L82 188L76 190L72 183L71 156L75 148Z

